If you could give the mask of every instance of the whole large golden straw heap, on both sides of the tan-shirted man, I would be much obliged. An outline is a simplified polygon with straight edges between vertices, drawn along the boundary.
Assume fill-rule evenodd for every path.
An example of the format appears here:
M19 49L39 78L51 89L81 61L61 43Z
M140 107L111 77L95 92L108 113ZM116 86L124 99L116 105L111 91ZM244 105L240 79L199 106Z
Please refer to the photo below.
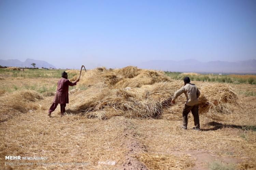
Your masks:
M182 81L171 80L160 71L128 66L116 70L89 70L79 85L86 86L74 96L68 112L89 118L106 119L117 115L137 118L180 117L184 103L171 104ZM200 89L200 88L199 88ZM200 113L228 113L223 103L236 102L237 95L227 84L204 84L199 97ZM178 100L186 100L182 95ZM179 115L179 116L175 116Z

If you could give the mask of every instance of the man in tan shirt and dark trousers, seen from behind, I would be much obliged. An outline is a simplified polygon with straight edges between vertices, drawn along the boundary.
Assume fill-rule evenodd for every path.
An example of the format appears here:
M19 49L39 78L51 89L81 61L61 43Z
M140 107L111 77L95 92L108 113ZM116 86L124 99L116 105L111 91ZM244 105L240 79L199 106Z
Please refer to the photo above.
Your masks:
M174 104L177 97L183 93L185 93L187 101L185 103L185 106L182 112L183 125L181 127L183 129L187 129L187 123L188 123L187 115L191 111L194 117L194 123L195 123L195 127L193 129L200 130L199 115L198 115L198 97L200 96L200 91L198 90L195 84L190 83L189 77L184 78L184 86L182 86L178 91L174 93L171 103Z

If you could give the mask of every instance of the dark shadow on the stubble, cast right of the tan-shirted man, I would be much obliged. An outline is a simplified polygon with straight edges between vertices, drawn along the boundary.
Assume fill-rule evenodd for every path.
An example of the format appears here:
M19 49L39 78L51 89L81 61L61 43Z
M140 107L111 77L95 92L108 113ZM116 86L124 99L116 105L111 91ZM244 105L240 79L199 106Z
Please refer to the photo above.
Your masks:
M201 131L216 131L218 129L222 129L222 128L236 128L236 129L242 129L242 130L252 130L252 131L256 131L256 125L235 125L235 124L223 124L223 123L218 123L218 122L209 122L206 125L210 125L213 126L213 128L209 128L209 129L201 129Z

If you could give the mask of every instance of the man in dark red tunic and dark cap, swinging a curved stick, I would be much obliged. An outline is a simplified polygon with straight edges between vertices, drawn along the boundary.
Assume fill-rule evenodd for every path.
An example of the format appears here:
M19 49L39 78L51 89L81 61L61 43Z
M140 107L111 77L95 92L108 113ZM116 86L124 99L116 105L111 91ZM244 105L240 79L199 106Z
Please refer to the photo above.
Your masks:
M69 103L69 86L75 86L76 82L79 82L77 79L75 82L70 82L68 80L68 73L63 71L61 73L61 79L58 81L58 86L56 90L55 97L53 99L53 104L48 111L48 116L51 117L51 113L56 109L58 104L60 104L60 113L61 116L65 113L66 103Z

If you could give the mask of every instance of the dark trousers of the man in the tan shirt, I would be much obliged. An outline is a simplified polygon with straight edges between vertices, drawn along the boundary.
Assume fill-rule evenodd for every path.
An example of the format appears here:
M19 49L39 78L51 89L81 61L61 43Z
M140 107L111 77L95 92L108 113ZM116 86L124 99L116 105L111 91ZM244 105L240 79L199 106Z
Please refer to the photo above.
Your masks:
M190 111L192 112L192 115L194 117L195 127L200 128L199 115L198 115L198 104L196 104L194 106L188 106L188 105L185 104L185 107L184 107L183 112L182 112L183 126L187 127L187 115L189 114Z

